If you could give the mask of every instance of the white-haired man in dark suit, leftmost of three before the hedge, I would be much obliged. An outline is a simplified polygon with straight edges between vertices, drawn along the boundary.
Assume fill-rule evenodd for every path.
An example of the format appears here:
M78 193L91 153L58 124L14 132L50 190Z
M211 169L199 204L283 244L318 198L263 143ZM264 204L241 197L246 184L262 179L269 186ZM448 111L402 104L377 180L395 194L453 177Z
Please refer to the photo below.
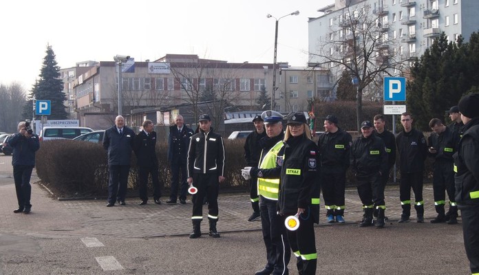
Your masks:
M122 206L126 204L125 195L134 138L135 132L125 126L125 118L121 115L115 118L115 125L105 131L103 148L108 151L109 168L107 207L114 206L116 201Z

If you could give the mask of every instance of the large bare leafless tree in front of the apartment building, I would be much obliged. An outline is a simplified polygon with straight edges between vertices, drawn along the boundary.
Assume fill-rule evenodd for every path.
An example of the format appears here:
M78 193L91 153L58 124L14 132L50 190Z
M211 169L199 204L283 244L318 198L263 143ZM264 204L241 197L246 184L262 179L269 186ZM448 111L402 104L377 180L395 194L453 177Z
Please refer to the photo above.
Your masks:
M362 100L381 98L383 76L402 75L407 60L401 58L401 41L389 32L387 13L370 5L343 9L330 33L317 43L317 52L310 52L310 61L326 65L337 78L354 80L356 91L356 124L360 129L363 117ZM345 72L345 74L343 74Z

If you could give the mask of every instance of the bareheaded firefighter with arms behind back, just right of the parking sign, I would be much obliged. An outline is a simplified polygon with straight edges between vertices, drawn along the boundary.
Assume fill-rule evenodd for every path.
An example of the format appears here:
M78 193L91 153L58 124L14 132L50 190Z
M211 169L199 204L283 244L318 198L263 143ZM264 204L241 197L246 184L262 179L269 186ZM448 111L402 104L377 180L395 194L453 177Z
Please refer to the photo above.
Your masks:
M404 130L396 136L398 146L401 181L399 182L399 199L403 213L399 223L409 222L411 215L411 188L414 191L414 208L417 222L424 222L423 173L424 161L427 157L427 144L423 133L412 128L412 116L401 114L401 124Z

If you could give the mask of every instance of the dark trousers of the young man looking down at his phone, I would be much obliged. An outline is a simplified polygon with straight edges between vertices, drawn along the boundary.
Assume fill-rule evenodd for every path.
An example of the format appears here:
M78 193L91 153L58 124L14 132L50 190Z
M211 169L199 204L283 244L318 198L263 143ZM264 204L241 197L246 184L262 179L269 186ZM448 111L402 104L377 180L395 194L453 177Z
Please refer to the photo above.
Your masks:
M456 201L454 193L456 187L454 186L454 163L446 162L444 160L436 160L433 169L432 188L434 190L434 201L445 201L447 197L449 201Z

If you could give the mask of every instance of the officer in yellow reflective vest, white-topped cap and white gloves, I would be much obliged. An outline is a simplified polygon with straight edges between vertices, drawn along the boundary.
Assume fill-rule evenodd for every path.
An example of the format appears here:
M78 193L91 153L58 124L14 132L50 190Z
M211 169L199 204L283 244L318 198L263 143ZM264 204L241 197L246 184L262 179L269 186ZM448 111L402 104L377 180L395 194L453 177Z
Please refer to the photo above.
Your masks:
M262 148L259 165L246 166L242 170L245 179L250 179L251 175L253 179L257 179L263 241L266 246L266 266L255 275L288 274L290 245L286 237L284 217L277 213L279 175L270 177L271 169L277 167L281 169L283 164L283 115L277 111L264 111L261 116L267 136L259 141ZM262 174L264 177L255 176L257 168L264 169Z

